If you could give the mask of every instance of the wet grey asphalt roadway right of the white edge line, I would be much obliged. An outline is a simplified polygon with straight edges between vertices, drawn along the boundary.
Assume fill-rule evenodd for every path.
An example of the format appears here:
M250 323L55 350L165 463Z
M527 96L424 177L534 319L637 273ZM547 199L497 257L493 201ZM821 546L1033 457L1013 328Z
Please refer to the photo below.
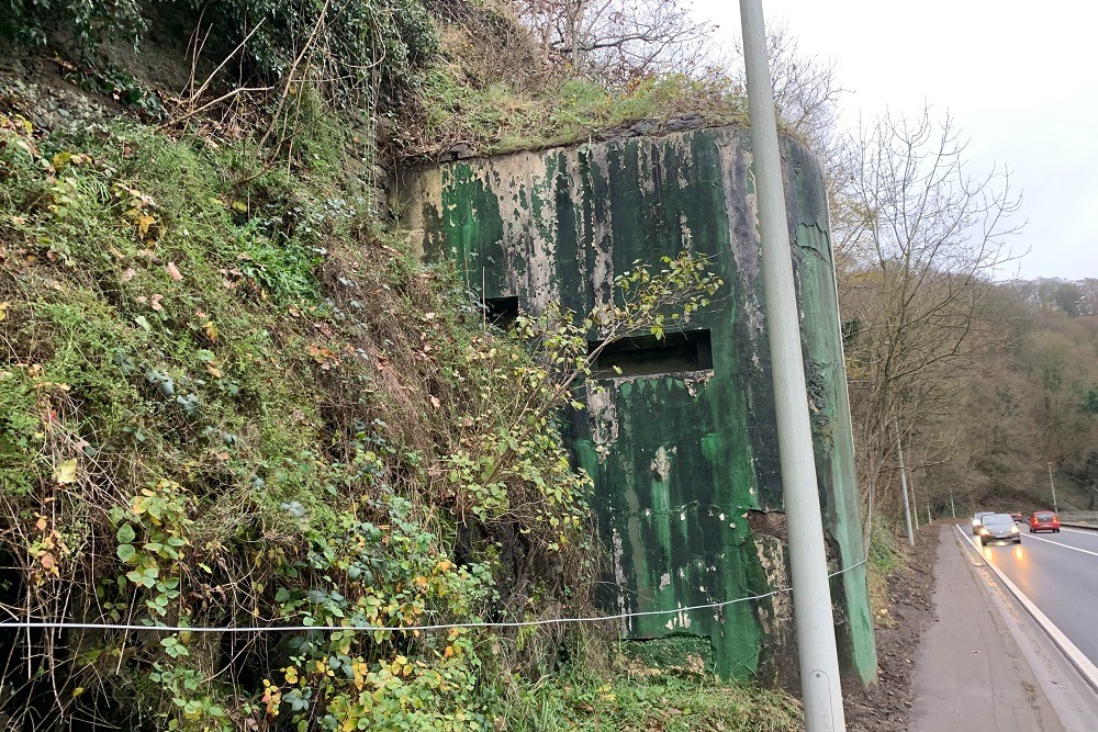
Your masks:
M984 558L1098 665L1098 531L1063 527L1060 533L1029 533L1024 523L1018 528L1022 543L990 543L982 549Z

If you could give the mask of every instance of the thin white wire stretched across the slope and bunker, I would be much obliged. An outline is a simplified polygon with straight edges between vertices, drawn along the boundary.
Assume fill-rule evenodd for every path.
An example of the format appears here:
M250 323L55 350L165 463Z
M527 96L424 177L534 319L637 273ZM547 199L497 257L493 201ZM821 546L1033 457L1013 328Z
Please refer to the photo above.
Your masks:
M856 570L869 561L869 556L863 559L858 564L852 564L844 570L839 570L838 572L832 572L828 575L828 578L836 577L840 574L850 572L851 570ZM345 630L354 630L359 632L372 633L377 631L381 632L401 632L407 633L412 631L424 631L424 630L450 630L451 628L529 628L530 626L551 626L551 624L569 624L569 623L581 623L581 622L605 622L607 620L627 620L629 618L643 618L658 615L679 615L681 612L691 612L693 610L712 610L717 608L722 608L728 605L736 605L737 603L748 603L751 600L761 600L768 597L773 597L774 595L781 595L782 593L793 592L793 587L782 587L781 589L772 589L769 593L763 593L762 595L752 595L751 597L738 597L735 600L724 600L720 603L709 603L707 605L691 605L688 607L675 608L673 610L646 610L643 612L619 612L617 615L606 615L606 616L592 616L592 617L580 617L580 618L546 618L541 620L512 620L512 621L495 621L495 622L448 622L439 623L434 626L244 626L244 627L233 627L233 628L215 628L211 626L135 626L126 623L100 623L100 622L70 622L66 620L8 620L0 622L0 629L12 628L19 630L26 629L71 629L71 630L123 630L123 631L142 631L142 630L157 630L161 632L178 633L178 632L190 632L190 633L271 633L271 632L302 632L309 630L320 630L325 632L336 632Z

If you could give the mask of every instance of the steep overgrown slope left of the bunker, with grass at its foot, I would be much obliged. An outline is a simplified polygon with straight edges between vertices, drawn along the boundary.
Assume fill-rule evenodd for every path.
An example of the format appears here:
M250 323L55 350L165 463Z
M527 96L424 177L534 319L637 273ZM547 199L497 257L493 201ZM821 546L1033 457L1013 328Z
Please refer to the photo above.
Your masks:
M139 61L0 77L0 604L65 626L0 627L7 727L796 724L688 663L631 683L603 626L460 627L590 616L601 556L553 419L494 468L539 365L385 230L410 58L366 124L292 69L209 109Z

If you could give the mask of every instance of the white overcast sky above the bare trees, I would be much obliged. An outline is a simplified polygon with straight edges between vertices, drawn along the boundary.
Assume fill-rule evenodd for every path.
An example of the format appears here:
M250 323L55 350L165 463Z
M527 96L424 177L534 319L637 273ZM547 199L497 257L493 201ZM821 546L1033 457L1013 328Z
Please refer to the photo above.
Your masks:
M1005 164L1022 192L1023 278L1098 278L1098 13L1077 0L763 0L804 54L836 63L847 124L888 106L953 115L971 172ZM740 35L736 0L695 0ZM1004 272L1012 275L1016 270Z

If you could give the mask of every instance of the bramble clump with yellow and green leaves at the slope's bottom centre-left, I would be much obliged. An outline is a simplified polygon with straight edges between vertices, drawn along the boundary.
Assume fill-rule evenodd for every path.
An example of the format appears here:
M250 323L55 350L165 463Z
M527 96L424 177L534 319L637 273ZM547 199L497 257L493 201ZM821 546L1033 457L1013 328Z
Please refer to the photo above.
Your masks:
M400 628L477 618L491 589L489 568L455 565L435 536L407 520L411 504L395 497L386 503L388 526L345 514L340 531L313 532L307 555L280 574L324 582L307 590L280 587L274 599L293 624L393 630L292 637L288 664L264 680L264 702L271 714L287 710L299 727L314 718L321 729L333 730L482 727L488 710L477 694L482 664L475 635L462 628Z

